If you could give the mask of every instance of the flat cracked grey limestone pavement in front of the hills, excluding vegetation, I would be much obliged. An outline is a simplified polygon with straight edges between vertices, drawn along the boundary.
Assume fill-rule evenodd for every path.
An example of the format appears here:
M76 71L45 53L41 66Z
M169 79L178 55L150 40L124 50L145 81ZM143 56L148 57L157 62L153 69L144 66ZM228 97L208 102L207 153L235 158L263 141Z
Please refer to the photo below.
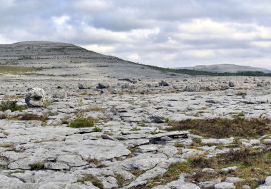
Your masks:
M167 128L172 121L188 119L240 114L271 118L269 81L196 77L98 84L3 76L2 101L15 99L25 105L27 90L34 86L46 91L46 100L44 107L0 113L0 188L250 188L244 180L250 183L260 177L255 173L255 178L237 178L232 169L242 166L215 170L201 165L201 172L218 174L212 180L193 180L195 173L189 171L178 170L164 180L163 175L171 173L175 163L185 165L191 158L212 158L242 148L266 149L269 136L218 139ZM95 127L68 127L78 112L94 118ZM21 120L22 115L36 117ZM269 174L270 167L264 174L266 183L258 188L270 188Z

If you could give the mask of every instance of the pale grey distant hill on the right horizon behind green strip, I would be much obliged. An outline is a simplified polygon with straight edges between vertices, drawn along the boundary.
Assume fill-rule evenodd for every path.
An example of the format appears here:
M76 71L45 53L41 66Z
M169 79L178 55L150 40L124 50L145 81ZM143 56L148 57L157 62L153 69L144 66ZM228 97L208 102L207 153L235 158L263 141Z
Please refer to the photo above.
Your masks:
M196 71L210 71L215 73L237 73L239 71L262 71L264 73L271 73L270 70L265 68L256 68L251 66L239 66L235 64L213 64L213 65L199 65L194 67L179 67L175 69L189 69Z

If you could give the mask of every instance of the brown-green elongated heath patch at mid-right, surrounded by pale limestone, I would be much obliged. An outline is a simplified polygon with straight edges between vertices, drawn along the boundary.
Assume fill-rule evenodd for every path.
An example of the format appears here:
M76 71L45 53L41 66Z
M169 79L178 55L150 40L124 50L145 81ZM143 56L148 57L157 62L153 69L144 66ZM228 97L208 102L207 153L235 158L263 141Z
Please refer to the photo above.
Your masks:
M168 131L187 131L208 138L256 138L271 133L270 120L262 118L215 118L175 121Z

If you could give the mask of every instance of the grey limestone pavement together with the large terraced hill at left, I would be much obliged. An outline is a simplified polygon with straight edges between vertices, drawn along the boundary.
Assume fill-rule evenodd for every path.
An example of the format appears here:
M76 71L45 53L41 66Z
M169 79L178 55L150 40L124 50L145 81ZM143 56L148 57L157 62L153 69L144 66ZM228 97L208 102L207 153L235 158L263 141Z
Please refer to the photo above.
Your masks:
M1 45L0 64L38 68L0 66L0 188L271 188L271 78L48 42Z

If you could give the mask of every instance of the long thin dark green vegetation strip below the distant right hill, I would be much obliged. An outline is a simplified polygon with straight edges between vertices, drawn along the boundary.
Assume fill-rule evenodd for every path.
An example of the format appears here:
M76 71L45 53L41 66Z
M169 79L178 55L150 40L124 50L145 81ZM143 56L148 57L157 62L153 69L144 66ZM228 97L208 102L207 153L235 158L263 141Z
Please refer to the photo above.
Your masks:
M215 73L215 72L209 72L209 71L196 71L196 70L189 70L189 69L172 69L172 68L162 68L158 66L150 66L145 65L148 68L152 68L158 71L163 72L171 72L171 73L183 73L188 75L202 75L202 76L271 76L271 73L263 73L262 71L239 71L237 73Z

